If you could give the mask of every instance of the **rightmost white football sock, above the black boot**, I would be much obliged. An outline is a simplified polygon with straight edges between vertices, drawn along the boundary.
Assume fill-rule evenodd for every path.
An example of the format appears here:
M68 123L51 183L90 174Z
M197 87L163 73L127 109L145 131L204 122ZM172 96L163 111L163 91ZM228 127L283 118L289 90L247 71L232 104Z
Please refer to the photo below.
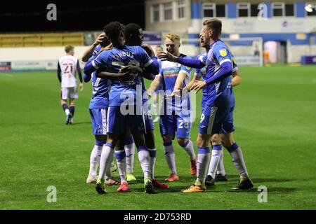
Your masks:
M242 155L242 150L239 148L237 143L234 143L232 146L228 147L228 151L232 156L232 163L237 169L239 176L248 178L248 172L244 163L244 156Z

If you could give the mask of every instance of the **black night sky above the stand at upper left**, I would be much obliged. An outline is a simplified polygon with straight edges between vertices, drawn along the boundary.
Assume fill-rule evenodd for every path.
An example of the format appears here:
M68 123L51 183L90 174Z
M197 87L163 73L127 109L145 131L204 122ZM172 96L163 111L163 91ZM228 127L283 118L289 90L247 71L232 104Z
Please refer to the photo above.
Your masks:
M48 3L57 6L57 21L48 21ZM145 28L144 1L2 1L0 33L101 30L108 22L138 23Z

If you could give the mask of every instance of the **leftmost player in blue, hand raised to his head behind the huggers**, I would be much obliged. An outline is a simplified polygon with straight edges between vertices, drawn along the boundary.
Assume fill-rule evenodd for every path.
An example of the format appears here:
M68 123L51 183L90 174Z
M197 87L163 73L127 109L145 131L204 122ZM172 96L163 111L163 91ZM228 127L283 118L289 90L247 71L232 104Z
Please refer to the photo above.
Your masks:
M111 50L112 43L103 32L96 38L96 41L88 47L82 56L82 61L87 62L88 59L95 58L103 50ZM106 131L106 116L108 108L109 98L109 86L110 79L100 79L96 77L96 73L93 72L92 76L84 74L84 82L90 81L92 78L93 97L89 104L89 112L91 116L91 123L93 127L93 135L96 138L96 144L93 147L90 155L90 169L86 183L96 183L98 179L97 169L100 164L100 156L103 150L103 146L106 143L107 131ZM116 165L112 162L111 169L115 170ZM117 185L118 181L114 181L111 177L111 171L106 171L105 179L108 185Z

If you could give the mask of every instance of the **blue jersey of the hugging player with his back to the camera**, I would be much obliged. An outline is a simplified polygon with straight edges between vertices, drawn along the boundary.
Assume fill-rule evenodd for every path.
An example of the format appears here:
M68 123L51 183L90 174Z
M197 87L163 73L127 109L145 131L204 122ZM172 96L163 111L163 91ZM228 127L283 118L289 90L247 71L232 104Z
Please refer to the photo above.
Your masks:
M127 65L136 65L141 68L147 67L152 64L152 59L142 47L124 45L122 48L113 48L112 50L101 52L96 59L93 59L92 64L96 69L100 66L105 66L107 71L119 73L120 69ZM133 99L132 102L129 101L129 104L135 104L137 85L140 86L138 97L141 97L139 95L141 95L143 78L139 74L134 75L135 78L133 80L112 81L109 106L121 106L122 103L126 102L126 99Z

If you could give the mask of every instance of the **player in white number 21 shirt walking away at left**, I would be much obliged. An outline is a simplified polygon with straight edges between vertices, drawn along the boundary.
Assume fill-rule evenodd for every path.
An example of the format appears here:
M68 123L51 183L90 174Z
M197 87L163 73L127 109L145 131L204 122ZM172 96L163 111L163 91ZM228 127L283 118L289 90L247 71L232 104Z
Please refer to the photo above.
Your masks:
M60 103L62 105L62 109L66 113L66 125L68 125L73 123L74 99L78 98L76 71L79 75L79 87L81 91L84 90L84 83L82 83L79 60L74 57L74 47L72 45L67 45L65 47L65 52L67 55L58 60L57 75L58 80L61 83ZM70 100L69 108L67 105L67 99Z

